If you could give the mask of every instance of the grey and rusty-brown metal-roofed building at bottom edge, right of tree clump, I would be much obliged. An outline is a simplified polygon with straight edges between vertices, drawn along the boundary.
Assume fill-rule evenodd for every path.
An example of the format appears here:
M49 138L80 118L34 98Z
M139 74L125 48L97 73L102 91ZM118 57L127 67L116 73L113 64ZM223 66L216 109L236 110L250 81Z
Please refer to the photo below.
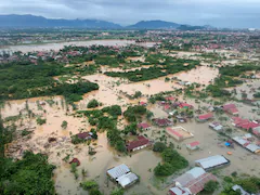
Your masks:
M174 179L174 186L170 188L170 195L192 195L204 190L204 185L209 181L217 181L217 178L206 172L200 167L195 167L179 178Z

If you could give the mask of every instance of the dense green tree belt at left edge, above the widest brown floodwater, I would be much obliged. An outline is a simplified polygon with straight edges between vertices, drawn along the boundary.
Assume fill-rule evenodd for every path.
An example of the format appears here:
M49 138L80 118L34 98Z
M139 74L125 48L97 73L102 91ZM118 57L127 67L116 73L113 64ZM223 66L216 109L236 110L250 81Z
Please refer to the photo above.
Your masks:
M79 81L69 84L53 80L54 76L69 74L73 69L55 62L39 65L29 62L0 65L0 100L64 95L68 102L77 102L82 94L99 89L99 86L92 82Z

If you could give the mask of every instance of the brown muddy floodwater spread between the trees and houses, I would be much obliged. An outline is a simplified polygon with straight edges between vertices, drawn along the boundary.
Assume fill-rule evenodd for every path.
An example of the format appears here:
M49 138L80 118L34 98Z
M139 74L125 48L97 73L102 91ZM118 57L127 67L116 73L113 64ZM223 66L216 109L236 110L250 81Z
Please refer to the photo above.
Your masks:
M106 40L105 43L100 41L87 41L77 42L75 44L89 46L93 43L102 43L105 46L125 46L132 43L132 41L118 41L119 40ZM23 48L25 51L35 51L38 49L44 50L50 49L50 47L54 47L54 50L57 50L64 44L65 43L22 47L27 47ZM152 44L152 42L147 44ZM178 57L194 57L195 54L197 53L179 52L178 54L172 54L172 56L174 55ZM145 57L143 55L136 57L127 57L127 61L145 62ZM227 63L227 61L223 63ZM232 63L232 61L230 63ZM91 65L94 64L94 61L84 62L83 64ZM188 63L184 63L184 65L186 66L188 65ZM174 123L171 125L172 129L177 127L182 127L187 130L177 130L177 133L179 132L179 134L182 134L186 139L182 142L178 142L166 133L166 127L157 127L155 126L155 123L153 123L153 120L151 120L152 118L147 116L148 112L145 110L145 115L136 117L138 123L142 121L147 122L152 126L152 128L147 131L139 130L136 132L139 134L147 136L150 139L148 142L152 144L155 142L164 141L167 144L172 143L174 145L174 148L187 159L190 164L188 169L194 167L195 160L199 158L205 158L213 155L223 155L231 160L231 165L223 169L217 170L216 174L222 177L237 171L239 173L259 176L259 155L255 155L236 144L234 148L226 147L224 145L226 136L211 130L208 127L208 121L205 123L199 123L196 122L194 119L194 116L197 116L198 113L208 113L209 106L212 106L216 102L218 103L218 105L222 104L223 102L218 102L219 100L217 99L207 98L207 94L206 98L202 100L195 100L186 98L186 95L183 95L183 93L179 93L181 91L180 89L183 89L184 91L187 86L192 83L202 84L202 87L198 88L198 90L202 89L202 91L208 84L212 83L214 78L219 77L219 69L217 68L217 66L219 66L220 64L216 64L213 66L210 65L211 64L209 64L208 62L200 63L199 66L196 66L191 70L180 72L178 74L167 75L156 79L139 82L131 82L127 78L108 77L104 75L104 72L131 72L141 68L148 68L152 65L142 65L140 67L131 67L127 69L122 69L121 65L115 68L112 68L109 66L101 66L100 68L98 68L98 70L100 70L99 73L96 73L96 70L93 75L86 74L87 76L81 76L81 79L84 81L87 80L98 83L99 90L84 93L82 95L82 100L79 99L80 101L78 102L70 102L70 104L68 104L66 103L64 96L57 95L40 96L28 100L8 101L5 102L4 107L1 109L1 115L3 120L9 120L5 121L6 123L11 125L13 122L17 126L17 138L15 141L8 144L6 154L9 157L13 157L14 159L21 159L25 151L31 151L34 153L42 153L44 155L48 155L49 162L56 166L53 179L56 193L61 195L88 194L80 187L80 182L84 180L95 180L99 183L101 192L104 193L104 195L109 195L109 193L118 185L116 183L113 183L107 178L106 171L107 169L118 166L120 164L126 164L132 172L140 177L139 183L132 185L125 191L126 195L167 194L169 187L172 184L172 178L170 177L176 176L172 174L168 178L168 180L170 180L169 184L164 183L165 179L159 180L155 177L154 168L159 162L161 162L162 158L159 153L153 152L152 146L147 146L146 148L134 153L119 153L114 148L115 145L114 147L112 147L113 144L109 144L109 133L107 132L113 128L107 128L106 131L100 130L98 132L98 140L92 140L91 142L86 141L84 143L79 144L72 143L73 135L80 132L89 132L92 128L96 128L93 123L93 126L91 126L91 121L89 120L90 116L87 115L89 110L102 109L103 107L112 105L119 105L121 107L121 110L125 112L128 106L143 105L146 106L150 112L152 112L152 118L168 118L171 123ZM67 66L69 66L69 64ZM55 80L58 80L61 82L62 80L64 80L64 82L67 83L77 83L80 80L79 78L79 76L69 77L69 75L67 74L54 77ZM253 88L253 90L256 91L260 88L259 83L259 80L255 79L247 81L239 87L236 87L236 98L240 100L242 91L245 91L248 94L248 99L252 99L253 92L251 88ZM227 90L231 91L234 90L234 88L230 88ZM138 98L134 96L136 92L141 92ZM170 99L168 101L166 101L166 99L162 99L164 101L156 100L157 102L155 101L154 104L151 103L151 96L154 98L156 96L156 94L161 95L159 93L165 92L168 92L169 94L167 95L172 98L173 101L171 101ZM162 98L166 98L166 94L164 94ZM91 100L98 101L96 107L88 107L88 103ZM167 106L164 106L165 104L171 104L172 107L173 104L177 104L179 106L179 102L193 105L191 106L191 108L186 108L186 106L184 106L184 108L181 107L180 109L178 107L174 107L174 109L177 109L178 117L184 117L182 116L184 115L183 113L187 113L188 109L192 110L192 114L194 116L185 116L186 122L183 123L177 120L177 116L172 117L171 113L169 113L169 110L166 108ZM255 120L259 118L257 112L253 112L253 109L257 109L257 107L251 107L251 105L244 105L242 102L235 101L235 99L233 99L232 103L237 105L237 108L239 109L239 115L242 117ZM77 113L77 110L81 110L81 113ZM29 114L29 112L31 113ZM84 115L82 113L84 113ZM104 112L102 114L106 116L108 115L108 112ZM134 113L134 117L135 114L136 113ZM118 128L118 134L122 136L121 138L119 135L120 139L123 140L123 146L126 146L129 141L138 140L138 136L134 135L134 133L132 132L131 134L123 131L126 128L125 126L131 125L131 121L127 120L126 115L116 115L116 117L113 119L108 119L116 120L117 123L115 125L115 128ZM230 135L246 133L245 131L231 126L230 115L223 113L221 117L221 122L223 123L223 126L225 128L232 129L233 134ZM216 114L217 119L220 120L221 117L217 116ZM94 119L98 118L99 117L95 117ZM37 122L37 119L46 119L46 123L43 122L42 125L39 125L39 122ZM62 127L62 123L64 121L67 122L66 128ZM106 122L108 123L109 121L106 120ZM22 135L24 130L29 130L30 134ZM166 140L164 140L162 138L166 138ZM188 151L186 148L186 144L195 141L198 141L200 143L199 150L194 152ZM90 152L93 151L94 154L90 155ZM78 178L70 170L72 167L69 165L69 161L74 158L77 158L80 161L80 165L77 167ZM159 180L160 182L162 181L165 186L158 187L155 184L155 181L157 180Z

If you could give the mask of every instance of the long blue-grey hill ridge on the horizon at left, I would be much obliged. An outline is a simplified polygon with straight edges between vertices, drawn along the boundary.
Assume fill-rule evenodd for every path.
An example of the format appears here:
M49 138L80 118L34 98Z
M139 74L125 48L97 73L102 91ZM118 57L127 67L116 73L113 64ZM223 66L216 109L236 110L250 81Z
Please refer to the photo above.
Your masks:
M120 25L98 20L51 20L35 15L0 15L0 27L80 27L121 28Z

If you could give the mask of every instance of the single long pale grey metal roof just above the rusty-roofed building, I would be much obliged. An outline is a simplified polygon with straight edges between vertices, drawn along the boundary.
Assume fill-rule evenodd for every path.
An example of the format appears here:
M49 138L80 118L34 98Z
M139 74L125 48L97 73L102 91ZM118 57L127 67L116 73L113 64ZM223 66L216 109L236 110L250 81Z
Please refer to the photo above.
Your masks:
M198 159L195 162L199 164L204 169L208 169L223 164L229 164L229 160L221 155L216 155L208 158Z

